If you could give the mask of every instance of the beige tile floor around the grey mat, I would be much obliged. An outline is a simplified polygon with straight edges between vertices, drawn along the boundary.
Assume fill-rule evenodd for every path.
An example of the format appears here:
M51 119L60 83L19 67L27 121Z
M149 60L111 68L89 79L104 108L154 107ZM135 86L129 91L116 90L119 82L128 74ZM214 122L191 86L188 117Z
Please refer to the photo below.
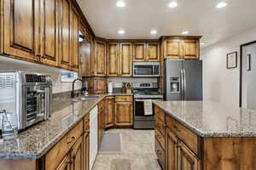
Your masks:
M160 170L154 154L154 130L110 129L122 133L122 151L98 154L93 170Z

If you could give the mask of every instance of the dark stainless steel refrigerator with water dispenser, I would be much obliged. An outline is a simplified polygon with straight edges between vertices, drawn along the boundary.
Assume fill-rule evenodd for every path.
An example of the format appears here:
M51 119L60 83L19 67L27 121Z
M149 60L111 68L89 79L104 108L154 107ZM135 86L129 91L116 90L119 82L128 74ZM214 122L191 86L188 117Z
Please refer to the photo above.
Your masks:
M165 61L165 100L202 100L202 61Z

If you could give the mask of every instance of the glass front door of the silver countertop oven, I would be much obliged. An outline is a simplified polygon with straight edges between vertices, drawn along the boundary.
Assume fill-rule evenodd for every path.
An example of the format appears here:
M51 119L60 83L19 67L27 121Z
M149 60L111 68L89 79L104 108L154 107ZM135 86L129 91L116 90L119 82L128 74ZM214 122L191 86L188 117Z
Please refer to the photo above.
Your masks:
M23 128L43 121L47 115L49 106L47 104L49 88L44 86L26 86L24 87L24 103L22 122Z

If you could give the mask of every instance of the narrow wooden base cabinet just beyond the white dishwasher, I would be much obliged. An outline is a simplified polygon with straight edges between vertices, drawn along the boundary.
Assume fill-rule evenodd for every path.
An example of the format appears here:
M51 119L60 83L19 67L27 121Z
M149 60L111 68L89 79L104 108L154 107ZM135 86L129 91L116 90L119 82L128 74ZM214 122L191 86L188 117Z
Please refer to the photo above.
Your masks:
M102 144L102 137L105 130L105 101L98 104L98 145Z

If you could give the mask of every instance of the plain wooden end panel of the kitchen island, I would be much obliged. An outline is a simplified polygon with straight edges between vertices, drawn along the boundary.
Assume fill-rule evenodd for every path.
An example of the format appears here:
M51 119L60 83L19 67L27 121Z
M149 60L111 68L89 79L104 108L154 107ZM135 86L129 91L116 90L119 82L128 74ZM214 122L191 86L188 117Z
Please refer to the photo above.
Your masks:
M256 169L255 143L254 137L205 138L203 139L203 169Z

